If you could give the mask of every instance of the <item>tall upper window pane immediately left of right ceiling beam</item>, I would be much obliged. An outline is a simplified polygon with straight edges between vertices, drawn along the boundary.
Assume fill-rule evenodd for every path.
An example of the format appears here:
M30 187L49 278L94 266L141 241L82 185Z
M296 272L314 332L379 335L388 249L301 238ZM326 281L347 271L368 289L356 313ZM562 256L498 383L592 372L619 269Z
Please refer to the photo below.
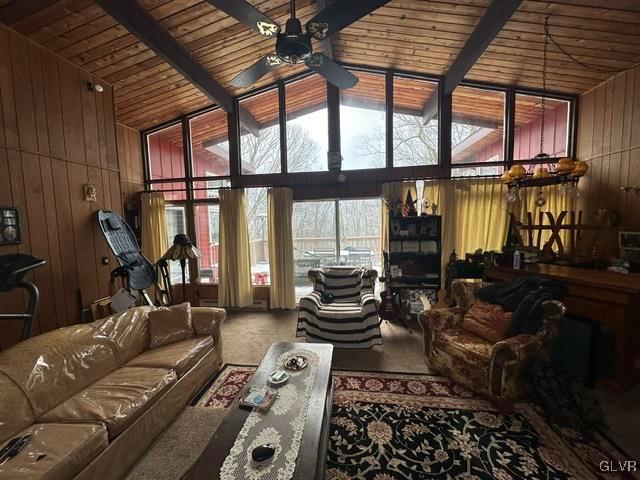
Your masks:
M438 163L438 84L393 79L393 165Z

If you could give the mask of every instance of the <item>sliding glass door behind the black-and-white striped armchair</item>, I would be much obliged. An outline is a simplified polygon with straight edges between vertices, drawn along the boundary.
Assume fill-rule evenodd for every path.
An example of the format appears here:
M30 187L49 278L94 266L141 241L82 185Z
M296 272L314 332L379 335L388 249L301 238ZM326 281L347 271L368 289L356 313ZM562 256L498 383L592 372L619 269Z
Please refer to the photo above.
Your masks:
M380 208L378 198L294 203L296 298L311 291L312 268L349 265L381 272Z

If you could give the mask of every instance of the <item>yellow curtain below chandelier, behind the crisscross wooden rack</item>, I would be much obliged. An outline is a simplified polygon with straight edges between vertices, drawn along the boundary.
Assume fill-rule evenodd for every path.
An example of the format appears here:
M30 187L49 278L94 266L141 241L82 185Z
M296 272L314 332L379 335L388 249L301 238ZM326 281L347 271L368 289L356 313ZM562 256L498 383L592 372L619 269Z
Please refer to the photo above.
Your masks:
M572 197L568 194L563 194L560 185L550 185L547 187L542 187L542 191L544 192L547 202L542 206L538 207L536 205L536 197L538 195L539 189L537 188L523 188L520 190L520 200L514 205L514 212L518 220L523 223L527 223L527 212L532 213L532 219L534 224L540 223L540 213L543 214L542 222L543 225L549 225L549 219L547 218L546 212L550 212L553 214L553 218L556 220L560 215L560 212L566 210L567 215L563 220L563 224L568 224L571 219L571 212L576 211L576 198ZM577 215L577 214L576 214ZM577 219L577 216L576 216ZM522 231L522 239L525 245L528 244L527 232ZM544 230L542 232L540 245L537 245L539 248L545 244L547 240L551 237L551 232L549 230ZM537 243L537 232L534 232L534 243ZM560 239L562 240L562 245L564 246L565 253L569 248L569 231L562 230L560 233ZM554 251L557 248L554 246Z

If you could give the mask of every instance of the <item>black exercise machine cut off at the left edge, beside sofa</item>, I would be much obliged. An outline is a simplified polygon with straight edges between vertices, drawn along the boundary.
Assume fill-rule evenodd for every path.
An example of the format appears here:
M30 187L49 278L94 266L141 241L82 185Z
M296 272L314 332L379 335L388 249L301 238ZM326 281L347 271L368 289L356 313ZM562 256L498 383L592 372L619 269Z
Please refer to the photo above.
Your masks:
M41 260L26 253L13 253L0 256L0 292L10 292L14 288L24 288L29 302L24 313L0 313L0 320L22 320L21 340L31 336L33 321L38 313L40 292L38 287L24 279L31 270L43 266Z

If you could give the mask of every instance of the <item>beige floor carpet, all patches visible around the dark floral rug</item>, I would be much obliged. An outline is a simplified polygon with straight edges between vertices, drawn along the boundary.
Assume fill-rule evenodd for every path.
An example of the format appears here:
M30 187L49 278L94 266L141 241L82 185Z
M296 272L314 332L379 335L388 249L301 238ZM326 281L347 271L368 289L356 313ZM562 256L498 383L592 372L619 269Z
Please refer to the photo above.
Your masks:
M422 353L422 331L413 322L412 333L397 324L382 323L383 345L366 350L335 349L334 368L385 372L430 373ZM222 326L223 358L228 364L258 365L276 341L296 339L296 312L229 312ZM640 407L637 393L625 397L603 394L610 436L638 458ZM213 436L224 409L201 411L187 407L142 457L127 480L178 480L198 458Z

